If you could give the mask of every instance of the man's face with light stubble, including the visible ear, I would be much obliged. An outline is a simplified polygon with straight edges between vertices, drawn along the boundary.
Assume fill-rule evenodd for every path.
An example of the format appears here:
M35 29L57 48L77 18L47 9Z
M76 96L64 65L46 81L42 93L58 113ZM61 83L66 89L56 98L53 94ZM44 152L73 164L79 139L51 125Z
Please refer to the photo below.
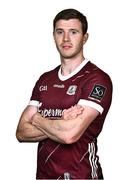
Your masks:
M59 20L56 23L54 39L63 58L73 58L82 53L87 36L83 35L82 25L78 19Z

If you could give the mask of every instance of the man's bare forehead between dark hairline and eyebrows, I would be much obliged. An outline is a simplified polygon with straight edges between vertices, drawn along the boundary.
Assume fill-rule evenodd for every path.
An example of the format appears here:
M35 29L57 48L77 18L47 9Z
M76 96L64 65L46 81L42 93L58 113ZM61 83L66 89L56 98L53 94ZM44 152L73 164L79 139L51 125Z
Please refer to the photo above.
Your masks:
M78 19L60 19L56 22L55 29L82 29L82 25Z

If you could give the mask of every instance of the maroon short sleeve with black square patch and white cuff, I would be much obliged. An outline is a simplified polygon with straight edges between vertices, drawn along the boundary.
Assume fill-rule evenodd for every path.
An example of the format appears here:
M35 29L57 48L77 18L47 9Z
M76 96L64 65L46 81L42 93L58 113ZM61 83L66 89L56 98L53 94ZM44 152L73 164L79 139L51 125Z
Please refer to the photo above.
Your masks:
M92 107L99 111L108 111L112 99L112 82L104 72L96 72L83 84L80 105Z

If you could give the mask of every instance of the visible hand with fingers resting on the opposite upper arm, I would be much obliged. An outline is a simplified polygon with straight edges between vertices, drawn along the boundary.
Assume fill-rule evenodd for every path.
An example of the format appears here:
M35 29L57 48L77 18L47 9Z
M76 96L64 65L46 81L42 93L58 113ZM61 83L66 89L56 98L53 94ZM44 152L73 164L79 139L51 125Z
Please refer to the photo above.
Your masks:
M64 109L62 112L62 118L64 120L74 119L78 115L82 114L84 108L80 105L72 106L69 109Z

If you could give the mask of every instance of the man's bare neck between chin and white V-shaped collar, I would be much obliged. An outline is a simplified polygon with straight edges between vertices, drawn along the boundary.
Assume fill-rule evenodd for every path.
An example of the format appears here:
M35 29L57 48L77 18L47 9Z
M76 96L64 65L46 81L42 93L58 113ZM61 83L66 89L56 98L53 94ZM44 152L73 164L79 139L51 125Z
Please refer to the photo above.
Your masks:
M72 73L84 61L84 56L75 58L61 58L61 73L67 76Z

